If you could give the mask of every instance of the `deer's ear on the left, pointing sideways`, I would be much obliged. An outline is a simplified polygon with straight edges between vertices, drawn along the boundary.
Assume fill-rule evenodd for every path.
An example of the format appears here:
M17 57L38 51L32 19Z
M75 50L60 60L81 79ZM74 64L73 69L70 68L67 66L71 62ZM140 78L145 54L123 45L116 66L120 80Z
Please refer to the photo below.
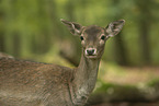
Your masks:
M82 26L80 24L73 23L73 22L68 22L63 19L60 21L68 27L68 30L70 31L71 34L73 34L73 35L81 34Z

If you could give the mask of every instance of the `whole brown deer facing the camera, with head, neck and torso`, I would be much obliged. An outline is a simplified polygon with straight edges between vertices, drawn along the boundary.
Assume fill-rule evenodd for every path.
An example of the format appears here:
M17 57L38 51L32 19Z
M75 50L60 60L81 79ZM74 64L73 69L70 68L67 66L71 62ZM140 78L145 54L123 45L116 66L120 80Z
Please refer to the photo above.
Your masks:
M82 55L78 68L0 58L0 106L83 106L96 82L106 39L116 35L124 21L107 28L84 27L61 20L79 35Z

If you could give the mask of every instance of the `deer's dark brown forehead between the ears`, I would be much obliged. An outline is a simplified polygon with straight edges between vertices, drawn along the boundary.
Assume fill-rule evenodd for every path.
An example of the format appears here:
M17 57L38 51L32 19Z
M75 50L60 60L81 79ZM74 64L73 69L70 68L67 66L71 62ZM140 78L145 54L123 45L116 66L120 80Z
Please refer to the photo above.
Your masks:
M83 33L87 34L88 36L96 36L98 34L102 33L103 28L100 26L91 25L88 26L83 30Z

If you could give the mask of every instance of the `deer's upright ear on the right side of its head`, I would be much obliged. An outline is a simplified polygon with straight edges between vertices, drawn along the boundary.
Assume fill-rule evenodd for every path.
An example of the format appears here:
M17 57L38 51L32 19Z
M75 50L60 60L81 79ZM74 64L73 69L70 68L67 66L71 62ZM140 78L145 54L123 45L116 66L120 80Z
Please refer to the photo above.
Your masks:
M120 21L110 23L105 27L105 32L109 34L107 36L113 37L113 36L117 35L121 32L121 30L123 28L124 23L125 23L124 20L120 20Z

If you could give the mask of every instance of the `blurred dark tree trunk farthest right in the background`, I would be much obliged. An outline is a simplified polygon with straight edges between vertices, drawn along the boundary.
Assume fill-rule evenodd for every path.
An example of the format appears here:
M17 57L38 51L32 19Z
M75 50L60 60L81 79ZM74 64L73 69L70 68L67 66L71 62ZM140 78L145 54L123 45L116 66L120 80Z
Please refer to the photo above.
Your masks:
M144 63L149 64L150 59L150 47L149 47L149 31L150 31L150 21L152 20L150 8L154 1L147 0L147 1L139 1L137 0L137 5L139 8L139 34L140 34L140 48L141 48L141 56Z

